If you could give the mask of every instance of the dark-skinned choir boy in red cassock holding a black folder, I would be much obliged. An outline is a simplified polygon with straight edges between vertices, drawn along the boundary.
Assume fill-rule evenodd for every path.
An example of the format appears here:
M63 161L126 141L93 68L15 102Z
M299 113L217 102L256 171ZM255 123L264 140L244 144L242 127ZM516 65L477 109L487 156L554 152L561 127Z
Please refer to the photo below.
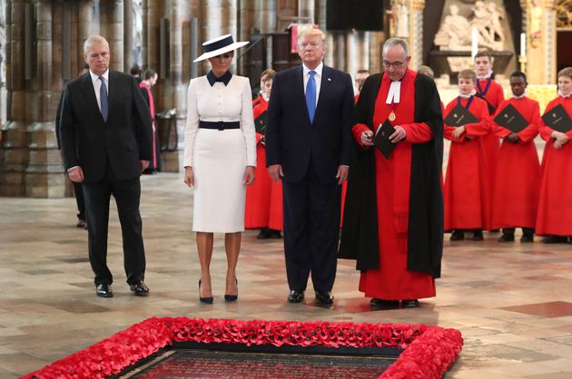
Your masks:
M538 102L525 93L527 76L516 72L510 75L512 98L501 102L495 117L508 105L526 120L528 125L518 132L510 131L493 118L484 124L482 134L490 132L504 139L498 157L497 176L493 185L492 228L502 228L499 242L515 240L515 227L522 228L520 242L532 242L537 219L540 163L534 139L541 124ZM488 129L488 130L486 130ZM467 126L468 134L479 135L478 128Z

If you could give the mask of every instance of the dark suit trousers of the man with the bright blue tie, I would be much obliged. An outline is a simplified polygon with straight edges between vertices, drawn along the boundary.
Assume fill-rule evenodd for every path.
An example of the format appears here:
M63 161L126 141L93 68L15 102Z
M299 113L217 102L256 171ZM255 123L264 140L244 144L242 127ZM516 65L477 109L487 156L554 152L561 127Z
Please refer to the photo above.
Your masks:
M284 255L291 290L331 291L340 236L340 186L324 183L313 165L301 181L282 180Z

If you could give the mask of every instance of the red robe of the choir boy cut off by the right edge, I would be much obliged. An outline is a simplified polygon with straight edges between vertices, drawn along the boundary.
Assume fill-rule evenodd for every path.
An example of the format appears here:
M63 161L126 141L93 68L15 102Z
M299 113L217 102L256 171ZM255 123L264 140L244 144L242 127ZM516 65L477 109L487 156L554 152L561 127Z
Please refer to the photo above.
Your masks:
M562 104L572 119L572 97L558 96L547 105L550 111ZM538 200L537 227L539 235L572 236L572 141L561 149L554 148L552 128L541 123L540 137L547 141L542 157L542 180ZM572 140L572 131L566 133Z

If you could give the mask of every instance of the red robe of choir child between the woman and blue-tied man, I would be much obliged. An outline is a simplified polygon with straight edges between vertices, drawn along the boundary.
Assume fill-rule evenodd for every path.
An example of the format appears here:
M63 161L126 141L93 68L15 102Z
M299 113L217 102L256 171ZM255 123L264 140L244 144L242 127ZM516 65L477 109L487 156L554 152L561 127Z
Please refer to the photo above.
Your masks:
M252 109L254 120L265 117L262 113L268 110L268 102L261 96L256 99ZM283 229L282 217L282 185L270 179L266 170L266 149L262 143L263 135L256 133L256 180L246 188L246 205L244 209L244 228Z

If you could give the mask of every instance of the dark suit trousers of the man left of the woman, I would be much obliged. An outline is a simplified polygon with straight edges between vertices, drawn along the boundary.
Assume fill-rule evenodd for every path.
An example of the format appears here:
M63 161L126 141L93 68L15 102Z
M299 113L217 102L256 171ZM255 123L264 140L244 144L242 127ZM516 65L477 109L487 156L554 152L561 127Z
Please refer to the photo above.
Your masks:
M145 251L142 220L139 213L141 181L139 177L118 180L107 165L104 178L96 183L83 183L85 214L87 216L89 261L95 274L95 285L112 284L113 275L107 267L107 231L109 203L115 199L123 236L123 267L127 283L143 280Z

